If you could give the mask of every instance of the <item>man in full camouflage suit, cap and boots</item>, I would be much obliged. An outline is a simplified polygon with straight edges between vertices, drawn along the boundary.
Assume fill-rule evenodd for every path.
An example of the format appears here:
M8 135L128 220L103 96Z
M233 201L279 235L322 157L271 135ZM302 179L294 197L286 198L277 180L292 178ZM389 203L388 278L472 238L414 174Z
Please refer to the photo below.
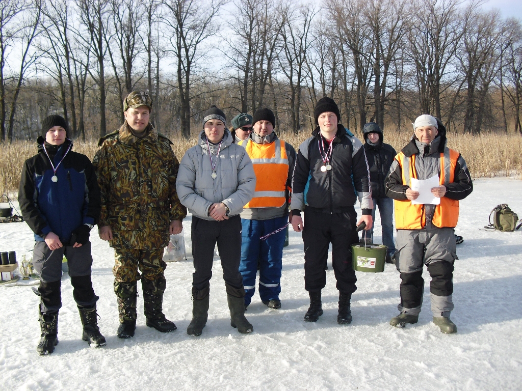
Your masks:
M115 250L120 338L134 336L140 278L147 326L161 332L176 329L162 312L167 284L163 248L169 234L181 233L187 212L176 193L180 163L170 147L172 142L149 123L151 106L145 92L128 94L125 123L100 140L101 148L93 160L101 191L99 234Z

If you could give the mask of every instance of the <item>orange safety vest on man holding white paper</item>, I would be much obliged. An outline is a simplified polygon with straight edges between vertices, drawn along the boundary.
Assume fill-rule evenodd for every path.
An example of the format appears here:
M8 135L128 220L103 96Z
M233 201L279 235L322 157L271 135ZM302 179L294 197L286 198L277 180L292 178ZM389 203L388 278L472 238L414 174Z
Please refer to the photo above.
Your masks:
M453 149L444 148L441 152L441 168L440 168L440 184L447 186L453 182L455 173L455 165L459 153ZM410 185L410 178L417 178L415 170L416 155L407 157L404 153L399 152L395 159L402 168L402 185ZM394 200L395 205L395 228L396 229L422 229L426 225L426 215L424 213L424 205L412 204L410 200L398 201ZM434 226L455 227L458 222L459 206L458 201L447 197L441 198L441 203L435 206L435 213L432 218Z

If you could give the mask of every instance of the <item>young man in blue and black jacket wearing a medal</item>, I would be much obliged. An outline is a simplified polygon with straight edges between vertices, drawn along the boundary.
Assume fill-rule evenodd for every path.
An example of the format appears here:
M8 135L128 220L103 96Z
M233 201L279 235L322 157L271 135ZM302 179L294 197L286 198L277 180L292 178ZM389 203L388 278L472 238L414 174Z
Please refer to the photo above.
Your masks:
M42 121L38 154L22 169L18 202L23 219L34 232L33 265L40 275L41 340L37 351L46 355L58 344L58 311L62 307L62 260L67 259L73 297L83 325L82 339L105 345L97 321L91 283L89 232L100 215L100 189L89 158L73 152L67 123L59 115Z

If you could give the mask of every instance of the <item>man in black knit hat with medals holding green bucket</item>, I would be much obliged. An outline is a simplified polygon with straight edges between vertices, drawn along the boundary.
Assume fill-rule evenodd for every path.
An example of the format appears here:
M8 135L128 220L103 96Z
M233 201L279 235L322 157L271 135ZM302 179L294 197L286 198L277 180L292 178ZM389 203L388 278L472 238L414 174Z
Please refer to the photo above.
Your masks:
M314 117L319 126L299 146L290 205L292 227L303 232L304 281L310 295L304 320L316 322L323 314L321 290L326 285L325 266L331 243L339 290L337 323L349 324L350 299L357 289L351 254L351 245L359 242L355 228L363 222L366 230L372 227L369 169L361 141L339 124L339 108L332 99L319 100ZM357 197L362 210L359 221L354 209Z

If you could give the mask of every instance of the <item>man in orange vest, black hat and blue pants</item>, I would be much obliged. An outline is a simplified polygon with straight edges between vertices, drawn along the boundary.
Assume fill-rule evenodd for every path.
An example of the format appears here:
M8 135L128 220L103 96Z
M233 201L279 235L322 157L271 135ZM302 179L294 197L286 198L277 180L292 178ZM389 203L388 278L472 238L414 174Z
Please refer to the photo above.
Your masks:
M245 287L245 308L255 292L259 263L259 296L272 309L281 308L281 267L286 226L289 221L288 201L295 163L292 145L279 140L274 132L276 117L268 108L254 113L254 131L240 141L254 165L256 190L254 198L241 213L242 245L239 271Z

